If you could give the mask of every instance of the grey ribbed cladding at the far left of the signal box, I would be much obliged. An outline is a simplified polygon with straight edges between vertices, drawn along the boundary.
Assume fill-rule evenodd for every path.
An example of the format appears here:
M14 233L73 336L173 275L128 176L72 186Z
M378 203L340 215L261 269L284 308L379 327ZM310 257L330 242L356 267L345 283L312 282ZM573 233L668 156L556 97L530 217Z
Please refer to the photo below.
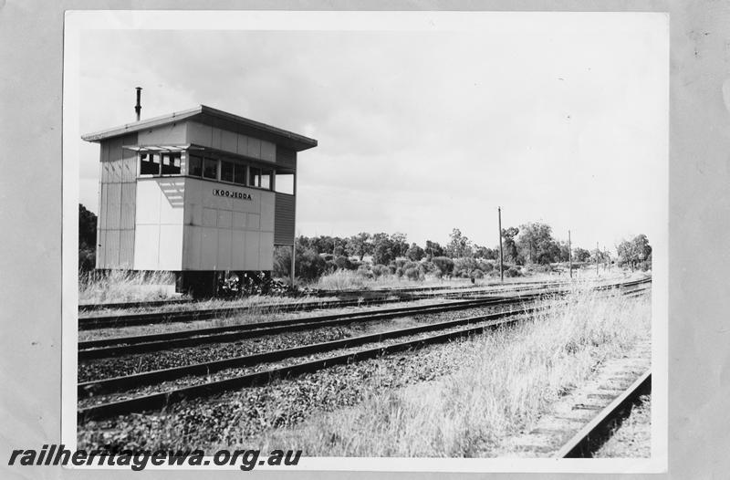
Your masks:
M134 214L137 155L123 145L137 133L101 142L97 268L131 268L134 261Z

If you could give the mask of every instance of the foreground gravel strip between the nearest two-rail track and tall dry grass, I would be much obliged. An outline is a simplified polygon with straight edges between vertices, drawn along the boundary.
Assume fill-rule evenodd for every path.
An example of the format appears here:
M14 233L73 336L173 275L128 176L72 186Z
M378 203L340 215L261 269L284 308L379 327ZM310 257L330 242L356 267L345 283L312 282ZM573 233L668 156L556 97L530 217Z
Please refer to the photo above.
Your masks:
M163 412L132 413L84 423L78 429L78 448L199 448L202 432L207 443L245 444L247 437L269 427L298 423L315 410L332 411L361 402L368 392L430 381L458 368L455 339L427 349L363 360L349 365L275 381L207 399L171 405ZM226 425L235 425L240 438L231 438Z

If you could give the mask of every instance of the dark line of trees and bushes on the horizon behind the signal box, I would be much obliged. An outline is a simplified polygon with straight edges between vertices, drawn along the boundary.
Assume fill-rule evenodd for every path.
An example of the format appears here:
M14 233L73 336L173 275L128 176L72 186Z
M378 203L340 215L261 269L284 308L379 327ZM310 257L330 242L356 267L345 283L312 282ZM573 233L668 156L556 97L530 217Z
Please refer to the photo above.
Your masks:
M92 270L96 257L97 215L78 204L78 267ZM378 276L387 273L416 277L426 274L476 276L490 273L498 265L499 245L487 247L477 245L454 228L449 241L441 245L426 240L424 245L408 242L405 234L361 232L348 237L318 235L298 236L296 242L296 276L315 279L335 269L359 270L365 275ZM528 222L519 227L502 229L503 256L508 275L517 275L517 266L548 266L568 262L568 243L557 240L552 228L540 222ZM632 269L651 268L652 246L646 235L636 235L616 245L615 261L619 266ZM364 262L365 257L370 262ZM576 264L612 261L609 254L599 250L588 250L579 246L572 248L572 259ZM275 275L288 277L291 253L288 248L277 248L274 258ZM381 266L377 267L376 266ZM362 267L362 268L360 268Z

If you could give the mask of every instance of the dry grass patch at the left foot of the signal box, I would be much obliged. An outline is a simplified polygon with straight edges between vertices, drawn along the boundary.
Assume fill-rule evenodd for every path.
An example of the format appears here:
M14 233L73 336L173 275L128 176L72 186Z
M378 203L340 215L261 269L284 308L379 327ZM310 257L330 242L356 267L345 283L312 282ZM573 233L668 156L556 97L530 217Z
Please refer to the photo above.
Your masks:
M78 303L115 303L164 300L175 296L170 272L112 270L78 273Z

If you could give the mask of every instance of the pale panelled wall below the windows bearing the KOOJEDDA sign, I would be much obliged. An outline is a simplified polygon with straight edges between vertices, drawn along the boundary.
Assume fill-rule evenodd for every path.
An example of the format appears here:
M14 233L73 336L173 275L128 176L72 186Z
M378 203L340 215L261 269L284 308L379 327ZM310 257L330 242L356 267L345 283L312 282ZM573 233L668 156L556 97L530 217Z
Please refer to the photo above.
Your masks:
M271 270L275 193L186 177L183 270Z

